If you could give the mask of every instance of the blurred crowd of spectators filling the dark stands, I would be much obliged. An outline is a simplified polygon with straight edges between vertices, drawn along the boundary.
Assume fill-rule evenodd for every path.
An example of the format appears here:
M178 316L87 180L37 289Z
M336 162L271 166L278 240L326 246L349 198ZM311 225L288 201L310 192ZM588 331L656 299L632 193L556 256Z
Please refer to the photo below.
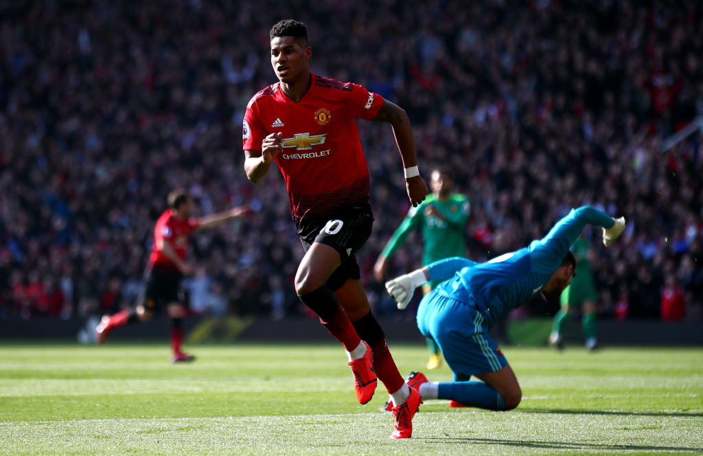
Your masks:
M283 179L243 172L241 120L276 82L281 18L307 23L313 72L407 110L426 180L455 170L469 258L595 205L627 219L610 248L588 232L600 315L702 318L703 135L662 141L703 115L703 8L669 0L0 2L0 318L132 305L176 187L203 215L254 210L193 234L193 312L305 313ZM376 217L359 264L375 311L398 317L371 272L408 210L401 160L388 125L359 124Z

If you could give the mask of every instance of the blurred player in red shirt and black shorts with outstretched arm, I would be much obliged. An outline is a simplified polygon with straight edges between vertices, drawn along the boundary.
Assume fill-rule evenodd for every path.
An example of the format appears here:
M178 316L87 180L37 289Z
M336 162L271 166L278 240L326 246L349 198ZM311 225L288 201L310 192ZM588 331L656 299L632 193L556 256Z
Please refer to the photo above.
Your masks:
M224 222L241 217L247 206L239 206L205 217L193 217L195 203L185 191L174 190L168 196L169 209L159 217L154 228L154 246L149 256L148 278L142 303L134 309L105 315L96 327L96 341L105 343L113 329L126 324L147 322L165 306L171 319L172 362L195 359L183 353L183 317L186 305L179 299L179 287L184 275L193 274L193 266L186 262L188 235L203 229L217 228Z

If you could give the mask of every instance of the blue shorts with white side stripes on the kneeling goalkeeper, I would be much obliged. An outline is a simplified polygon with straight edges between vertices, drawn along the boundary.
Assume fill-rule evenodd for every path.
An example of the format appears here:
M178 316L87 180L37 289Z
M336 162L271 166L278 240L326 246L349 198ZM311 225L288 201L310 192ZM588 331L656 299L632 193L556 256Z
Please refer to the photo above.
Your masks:
M452 299L434 289L420 301L417 318L420 333L437 342L455 376L496 372L508 365L488 334L482 312L472 303Z

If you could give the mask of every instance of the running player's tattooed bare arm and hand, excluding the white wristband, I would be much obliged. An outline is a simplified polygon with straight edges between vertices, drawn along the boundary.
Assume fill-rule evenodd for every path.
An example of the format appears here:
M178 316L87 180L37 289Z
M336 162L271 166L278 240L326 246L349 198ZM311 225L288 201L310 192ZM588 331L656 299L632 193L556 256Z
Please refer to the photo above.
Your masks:
M413 129L410 126L410 119L403 108L383 101L383 106L378 110L378 114L373 118L375 122L389 123L393 128L393 134L403 159L403 166L406 168L418 165L418 157L415 153L415 139L413 139ZM408 190L408 197L413 206L420 204L427 195L427 185L420 176L405 179Z

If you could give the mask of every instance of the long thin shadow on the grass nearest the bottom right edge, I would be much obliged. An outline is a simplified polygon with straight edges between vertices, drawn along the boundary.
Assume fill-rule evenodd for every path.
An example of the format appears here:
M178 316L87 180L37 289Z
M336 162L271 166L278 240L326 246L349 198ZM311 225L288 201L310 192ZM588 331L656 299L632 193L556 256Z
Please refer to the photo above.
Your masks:
M471 443L473 445L510 445L515 447L541 448L543 450L638 450L638 451L695 451L701 452L703 448L669 447L654 445L608 445L604 443L579 443L579 442L540 442L540 441L512 441L503 438L472 438L472 437L427 437L418 440L430 443ZM415 437L413 437L414 439Z

